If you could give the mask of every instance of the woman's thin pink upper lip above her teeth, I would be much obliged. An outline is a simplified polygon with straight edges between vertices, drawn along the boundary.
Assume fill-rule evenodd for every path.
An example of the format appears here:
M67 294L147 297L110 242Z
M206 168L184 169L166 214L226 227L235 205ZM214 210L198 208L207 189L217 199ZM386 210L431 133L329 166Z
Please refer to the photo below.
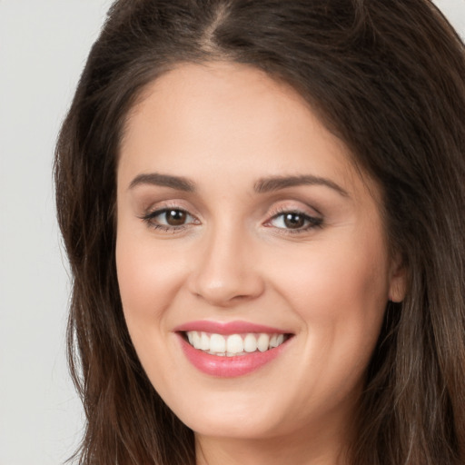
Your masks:
M240 334L244 332L265 332L268 334L289 334L290 331L284 331L279 328L272 328L262 324L234 321L234 322L213 322L211 320L198 320L195 322L186 322L176 326L173 331L203 331L215 334Z

